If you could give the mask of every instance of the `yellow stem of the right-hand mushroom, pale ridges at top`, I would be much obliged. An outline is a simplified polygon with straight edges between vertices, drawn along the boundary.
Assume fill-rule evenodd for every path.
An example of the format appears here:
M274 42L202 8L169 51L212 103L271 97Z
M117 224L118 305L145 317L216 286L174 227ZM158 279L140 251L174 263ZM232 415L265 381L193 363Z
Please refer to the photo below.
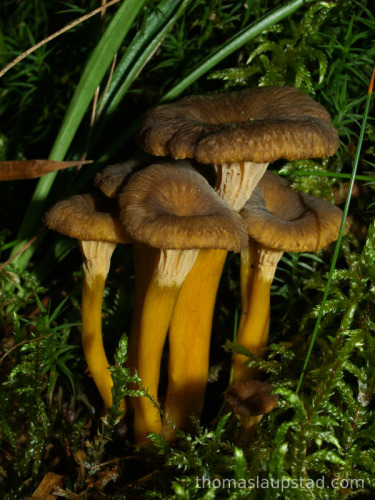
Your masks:
M250 273L250 276L252 275L251 293L241 315L237 343L256 356L263 357L268 341L271 284L283 252L262 247L260 244L257 246L257 264L254 272ZM254 370L244 364L247 360L247 356L242 354L233 355L234 382L249 380L254 376Z

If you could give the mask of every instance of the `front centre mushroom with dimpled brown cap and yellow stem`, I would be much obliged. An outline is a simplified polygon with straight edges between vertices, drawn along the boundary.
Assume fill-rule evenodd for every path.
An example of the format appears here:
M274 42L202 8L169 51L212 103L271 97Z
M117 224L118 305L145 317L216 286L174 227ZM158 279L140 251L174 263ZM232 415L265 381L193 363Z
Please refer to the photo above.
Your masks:
M158 249L152 273L146 264L149 276L139 280L143 291L138 292L138 303L143 300L141 307L135 307L129 347L131 365L157 401L163 346L180 287L200 248L223 245L223 235L228 241L223 250L243 247L242 221L236 217L239 231L230 207L186 165L145 168L130 179L118 201L120 218L131 237L147 245L146 253L148 247ZM159 411L150 399L136 398L134 413L137 442L146 441L147 432L162 431Z

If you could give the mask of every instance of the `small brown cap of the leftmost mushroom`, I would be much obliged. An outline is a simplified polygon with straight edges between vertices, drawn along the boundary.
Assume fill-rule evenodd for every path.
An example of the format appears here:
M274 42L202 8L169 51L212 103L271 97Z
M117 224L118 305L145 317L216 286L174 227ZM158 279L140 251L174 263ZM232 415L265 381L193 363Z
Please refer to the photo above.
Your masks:
M44 217L46 226L79 241L132 243L121 226L116 202L81 194L57 202Z

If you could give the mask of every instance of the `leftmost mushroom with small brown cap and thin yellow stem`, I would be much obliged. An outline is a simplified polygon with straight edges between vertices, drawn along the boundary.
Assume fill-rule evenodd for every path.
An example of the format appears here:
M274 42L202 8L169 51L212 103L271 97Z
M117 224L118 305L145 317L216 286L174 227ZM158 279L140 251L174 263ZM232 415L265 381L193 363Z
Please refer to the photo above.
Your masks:
M106 408L112 404L112 377L102 339L102 302L117 243L131 243L118 222L112 200L90 194L56 203L45 215L49 229L78 240L83 257L81 339L89 371ZM125 410L124 402L120 409Z

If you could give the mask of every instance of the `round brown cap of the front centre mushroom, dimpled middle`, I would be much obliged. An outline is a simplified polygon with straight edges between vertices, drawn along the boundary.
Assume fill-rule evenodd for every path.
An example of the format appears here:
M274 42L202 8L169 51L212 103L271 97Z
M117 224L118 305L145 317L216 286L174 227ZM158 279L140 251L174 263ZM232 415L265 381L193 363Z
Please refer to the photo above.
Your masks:
M234 252L247 246L241 217L193 168L151 165L131 178L118 201L126 231L149 246Z

